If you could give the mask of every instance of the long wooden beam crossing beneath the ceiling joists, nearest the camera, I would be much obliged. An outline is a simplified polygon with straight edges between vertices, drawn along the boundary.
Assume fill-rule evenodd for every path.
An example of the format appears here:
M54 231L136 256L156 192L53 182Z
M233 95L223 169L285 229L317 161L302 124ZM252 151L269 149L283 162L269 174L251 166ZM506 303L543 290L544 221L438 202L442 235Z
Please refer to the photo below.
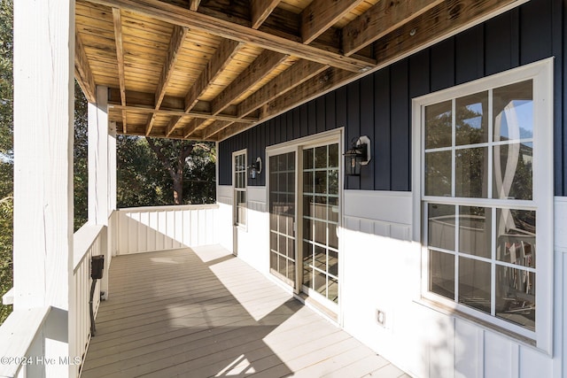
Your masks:
M217 19L199 12L191 12L174 4L159 0L89 0L93 4L120 7L131 12L159 19L181 27L189 27L228 38L238 42L251 43L265 50L273 50L298 58L313 60L324 65L335 66L354 73L365 73L375 65L366 60L349 58L337 52L319 49L301 42L290 41L278 35Z

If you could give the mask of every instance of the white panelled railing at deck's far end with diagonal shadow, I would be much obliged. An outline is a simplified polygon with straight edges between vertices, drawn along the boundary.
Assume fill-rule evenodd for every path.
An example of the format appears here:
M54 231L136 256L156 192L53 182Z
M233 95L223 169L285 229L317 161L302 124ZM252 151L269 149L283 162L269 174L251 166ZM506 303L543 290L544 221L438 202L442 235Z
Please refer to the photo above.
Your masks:
M118 254L219 243L216 204L137 207L118 211Z

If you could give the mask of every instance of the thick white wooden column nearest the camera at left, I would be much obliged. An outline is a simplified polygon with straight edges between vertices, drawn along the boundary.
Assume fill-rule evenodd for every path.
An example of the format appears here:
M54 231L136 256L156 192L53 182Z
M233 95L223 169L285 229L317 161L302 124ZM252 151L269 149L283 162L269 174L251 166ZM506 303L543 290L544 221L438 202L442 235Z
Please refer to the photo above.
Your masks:
M74 0L14 1L14 307L53 307L43 357L57 361L69 353L73 127Z

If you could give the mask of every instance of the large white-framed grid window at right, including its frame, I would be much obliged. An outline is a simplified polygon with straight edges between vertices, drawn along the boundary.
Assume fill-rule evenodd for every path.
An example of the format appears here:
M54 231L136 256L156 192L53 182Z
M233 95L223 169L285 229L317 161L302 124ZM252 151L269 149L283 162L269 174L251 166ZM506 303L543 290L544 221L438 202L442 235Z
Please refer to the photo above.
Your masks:
M551 351L553 60L413 101L422 297Z

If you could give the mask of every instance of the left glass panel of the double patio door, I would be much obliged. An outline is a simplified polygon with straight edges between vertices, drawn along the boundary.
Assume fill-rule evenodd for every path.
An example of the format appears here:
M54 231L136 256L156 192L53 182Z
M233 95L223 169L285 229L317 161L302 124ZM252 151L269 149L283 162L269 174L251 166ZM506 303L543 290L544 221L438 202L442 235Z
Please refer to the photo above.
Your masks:
M269 157L270 271L295 287L295 152Z

